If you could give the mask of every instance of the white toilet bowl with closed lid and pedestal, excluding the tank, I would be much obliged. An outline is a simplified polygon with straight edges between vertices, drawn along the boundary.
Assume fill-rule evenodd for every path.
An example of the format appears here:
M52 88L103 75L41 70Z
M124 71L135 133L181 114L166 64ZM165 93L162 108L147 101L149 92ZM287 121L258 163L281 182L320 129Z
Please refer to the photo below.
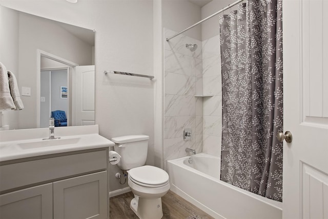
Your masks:
M130 207L142 219L163 216L161 197L170 189L169 175L154 166L141 166L129 171L128 184L135 198Z

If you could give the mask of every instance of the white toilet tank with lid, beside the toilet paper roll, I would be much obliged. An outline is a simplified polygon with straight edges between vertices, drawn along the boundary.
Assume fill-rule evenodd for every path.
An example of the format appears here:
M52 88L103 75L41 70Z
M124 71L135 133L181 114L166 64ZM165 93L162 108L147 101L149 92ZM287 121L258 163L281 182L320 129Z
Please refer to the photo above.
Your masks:
M146 135L131 135L112 138L114 150L121 156L117 166L122 170L144 166L147 159L148 139Z

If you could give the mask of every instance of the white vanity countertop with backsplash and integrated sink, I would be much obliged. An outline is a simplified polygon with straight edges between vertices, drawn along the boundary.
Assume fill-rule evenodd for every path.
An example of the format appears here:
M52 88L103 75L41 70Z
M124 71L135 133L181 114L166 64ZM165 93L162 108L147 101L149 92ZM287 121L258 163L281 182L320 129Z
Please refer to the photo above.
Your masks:
M114 146L98 134L97 125L55 128L60 139L42 140L48 137L49 128L0 131L0 161Z

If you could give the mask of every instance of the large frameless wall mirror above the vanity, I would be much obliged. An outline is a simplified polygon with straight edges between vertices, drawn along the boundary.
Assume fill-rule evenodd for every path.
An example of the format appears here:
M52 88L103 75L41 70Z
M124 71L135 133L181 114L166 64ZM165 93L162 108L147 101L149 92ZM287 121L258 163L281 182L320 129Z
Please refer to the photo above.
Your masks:
M14 40L9 49L18 50L17 57L7 61L9 66L2 62L15 74L24 103L21 111L2 115L15 120L8 122L13 124L9 129L49 127L55 111L67 118L60 125L94 124L94 31L0 7L1 18L14 18L6 18L7 27L2 25L0 31L14 29L17 36L9 39Z

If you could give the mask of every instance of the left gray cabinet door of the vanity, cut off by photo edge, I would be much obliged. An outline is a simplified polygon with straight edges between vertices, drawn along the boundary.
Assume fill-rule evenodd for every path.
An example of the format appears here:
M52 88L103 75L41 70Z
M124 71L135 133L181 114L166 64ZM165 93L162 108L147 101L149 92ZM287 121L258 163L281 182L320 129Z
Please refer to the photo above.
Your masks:
M52 218L52 183L0 195L0 218Z

